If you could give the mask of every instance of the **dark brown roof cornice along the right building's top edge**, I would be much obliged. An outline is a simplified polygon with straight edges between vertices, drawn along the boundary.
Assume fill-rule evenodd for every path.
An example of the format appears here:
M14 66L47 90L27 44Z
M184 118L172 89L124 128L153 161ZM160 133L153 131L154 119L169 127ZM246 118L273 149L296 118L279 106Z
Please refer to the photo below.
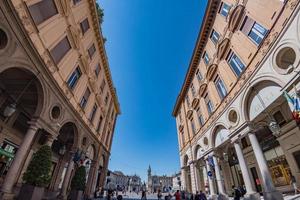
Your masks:
M215 20L220 2L221 2L220 0L210 0L207 3L205 15L202 20L202 25L201 25L200 32L199 32L199 35L198 35L198 38L196 41L196 46L195 46L193 54L192 54L189 68L186 73L186 76L185 76L185 79L183 82L183 86L180 90L180 93L177 97L177 100L176 100L176 103L175 103L175 106L173 109L172 115L174 117L177 115L178 109L180 108L180 105L181 105L181 103L186 95L186 92L188 91L188 88L193 80L193 77L196 73L196 69L201 60L201 55L202 55L203 50L208 41L211 28L214 24L213 22Z

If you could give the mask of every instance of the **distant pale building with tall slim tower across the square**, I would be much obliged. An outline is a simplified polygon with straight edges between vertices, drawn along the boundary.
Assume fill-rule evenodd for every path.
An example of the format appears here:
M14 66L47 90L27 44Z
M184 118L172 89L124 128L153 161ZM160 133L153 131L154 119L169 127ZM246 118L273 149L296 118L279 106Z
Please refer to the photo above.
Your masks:
M148 168L148 184L147 189L149 192L157 192L161 190L162 192L168 192L172 190L173 187L173 177L170 176L157 176L152 175L151 167Z

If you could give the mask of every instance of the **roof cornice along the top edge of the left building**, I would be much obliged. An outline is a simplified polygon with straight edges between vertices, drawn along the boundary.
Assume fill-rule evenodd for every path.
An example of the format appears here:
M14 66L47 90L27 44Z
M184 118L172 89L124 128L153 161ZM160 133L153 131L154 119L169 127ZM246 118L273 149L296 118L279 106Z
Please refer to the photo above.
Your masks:
M112 99L114 101L114 106L117 110L118 114L121 114L121 109L120 109L120 104L119 104L119 100L118 100L118 96L117 96L117 92L116 92L116 88L113 85L113 81L112 81L112 76L111 76L111 72L109 69L109 63L108 63L108 58L106 55L106 50L105 50L105 46L104 46L104 40L103 40L103 35L102 35L102 29L101 26L99 25L99 19L98 19L98 14L97 14L97 8L96 8L96 1L95 0L89 0L89 8L91 10L91 16L92 16L92 26L94 28L94 32L95 32L95 36L96 36L96 41L97 41L97 46L98 46L98 50L101 56L101 59L103 61L103 68L105 71L105 76L109 85L109 89L112 95Z

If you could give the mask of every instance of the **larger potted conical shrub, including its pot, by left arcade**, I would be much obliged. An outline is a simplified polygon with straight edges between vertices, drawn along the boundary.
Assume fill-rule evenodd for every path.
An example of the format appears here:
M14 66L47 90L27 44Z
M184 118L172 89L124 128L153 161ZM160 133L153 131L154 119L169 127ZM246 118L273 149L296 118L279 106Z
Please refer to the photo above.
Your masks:
M47 145L41 146L34 153L23 176L24 184L18 195L18 200L39 200L43 198L44 187L49 185L51 176L52 151Z

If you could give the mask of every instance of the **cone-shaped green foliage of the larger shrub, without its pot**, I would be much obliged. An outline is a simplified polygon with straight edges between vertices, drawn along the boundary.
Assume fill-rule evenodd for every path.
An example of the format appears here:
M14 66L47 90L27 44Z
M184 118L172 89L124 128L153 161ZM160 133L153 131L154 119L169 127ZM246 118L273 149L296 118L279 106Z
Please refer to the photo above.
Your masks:
M52 151L47 145L33 155L32 160L23 176L23 181L32 186L46 187L51 180Z

